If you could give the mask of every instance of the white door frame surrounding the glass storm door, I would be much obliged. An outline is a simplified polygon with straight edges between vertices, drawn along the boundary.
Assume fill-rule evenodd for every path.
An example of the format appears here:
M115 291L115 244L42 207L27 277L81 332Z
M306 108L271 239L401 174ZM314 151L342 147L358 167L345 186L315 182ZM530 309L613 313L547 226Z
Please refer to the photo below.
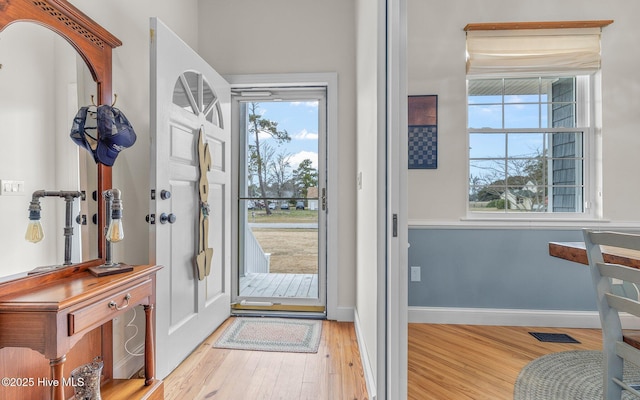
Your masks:
M353 309L338 307L338 243L340 232L338 230L338 74L337 73L295 73L295 74L251 74L251 75L225 75L224 78L231 85L231 90L242 88L260 87L287 87L287 86L326 86L327 88L327 211L326 211L326 315L328 319L339 321L353 320ZM232 107L235 103L232 102ZM237 115L232 109L232 118ZM232 126L231 154L238 160L232 168L232 205L231 235L238 237L238 193L239 193L239 128ZM333 209L335 207L335 209ZM232 241L231 249L231 284L237 288L238 284L238 241ZM234 293L235 293L234 289ZM233 298L232 298L233 300Z

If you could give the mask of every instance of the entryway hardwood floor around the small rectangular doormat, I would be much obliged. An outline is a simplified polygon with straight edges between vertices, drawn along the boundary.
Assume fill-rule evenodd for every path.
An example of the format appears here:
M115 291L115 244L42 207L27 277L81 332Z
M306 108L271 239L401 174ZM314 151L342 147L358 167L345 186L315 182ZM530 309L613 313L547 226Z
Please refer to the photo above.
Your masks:
M231 320L165 378L166 400L368 399L353 323L323 321L317 353L214 348Z

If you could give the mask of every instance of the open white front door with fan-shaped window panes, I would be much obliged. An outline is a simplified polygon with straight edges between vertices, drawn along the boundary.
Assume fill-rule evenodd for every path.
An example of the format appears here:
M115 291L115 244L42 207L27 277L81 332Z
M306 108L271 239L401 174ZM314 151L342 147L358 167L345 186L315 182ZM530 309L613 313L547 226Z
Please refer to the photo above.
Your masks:
M150 262L156 291L157 375L167 376L228 316L231 287L229 84L160 20L151 19ZM210 162L201 203L199 134ZM200 146L202 146L202 144ZM200 148L202 150L202 147ZM203 162L201 162L203 161ZM208 207L207 207L208 204ZM212 249L198 271L202 219Z

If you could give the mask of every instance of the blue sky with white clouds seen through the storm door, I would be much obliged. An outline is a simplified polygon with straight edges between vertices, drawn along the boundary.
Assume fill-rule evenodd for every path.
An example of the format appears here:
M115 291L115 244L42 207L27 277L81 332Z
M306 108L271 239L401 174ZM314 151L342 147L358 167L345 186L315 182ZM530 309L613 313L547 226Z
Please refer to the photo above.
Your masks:
M292 169L304 159L310 159L318 168L318 102L271 101L260 102L263 118L278 123L278 128L286 130L291 137L289 143L280 145L276 150L291 154ZM277 142L267 139L267 143L276 147Z

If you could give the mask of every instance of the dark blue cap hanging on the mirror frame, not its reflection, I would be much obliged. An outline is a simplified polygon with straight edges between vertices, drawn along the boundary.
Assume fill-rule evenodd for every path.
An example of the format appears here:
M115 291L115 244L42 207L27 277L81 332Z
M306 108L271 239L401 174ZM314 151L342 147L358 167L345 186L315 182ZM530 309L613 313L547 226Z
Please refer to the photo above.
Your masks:
M98 106L98 147L96 160L112 166L118 154L136 142L136 133L127 117L115 107Z

